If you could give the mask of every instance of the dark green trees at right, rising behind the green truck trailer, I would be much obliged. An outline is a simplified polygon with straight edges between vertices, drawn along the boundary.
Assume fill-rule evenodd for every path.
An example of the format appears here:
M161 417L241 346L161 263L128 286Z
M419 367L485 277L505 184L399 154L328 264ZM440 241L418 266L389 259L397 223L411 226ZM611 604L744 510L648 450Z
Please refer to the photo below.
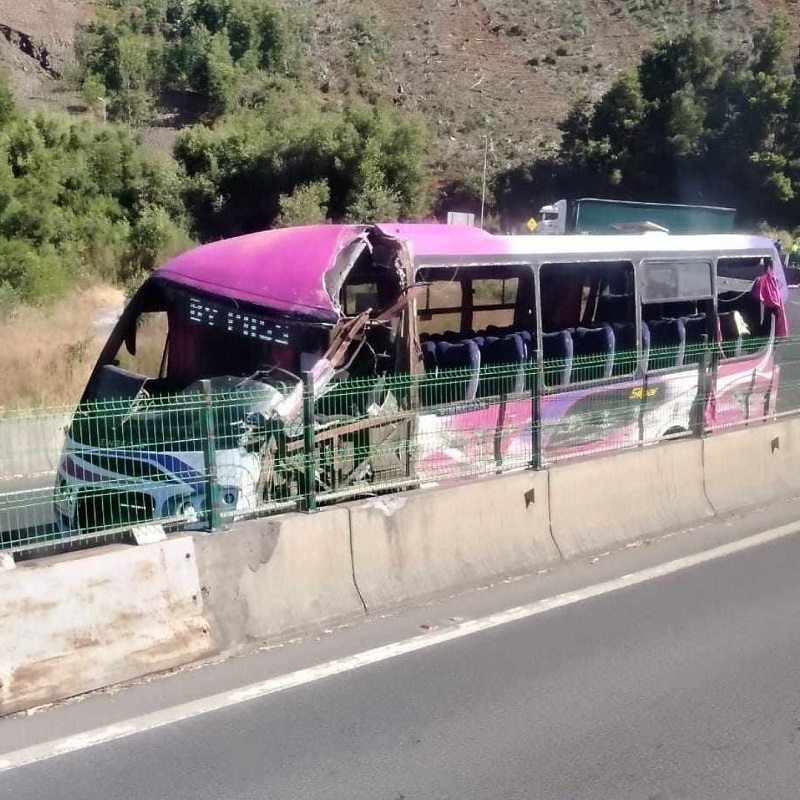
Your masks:
M735 205L745 222L794 224L800 54L792 72L782 12L753 41L749 57L724 53L698 29L656 42L597 102L575 104L560 126L556 159L501 176L501 203L508 207L520 192L541 193L540 201L598 193Z

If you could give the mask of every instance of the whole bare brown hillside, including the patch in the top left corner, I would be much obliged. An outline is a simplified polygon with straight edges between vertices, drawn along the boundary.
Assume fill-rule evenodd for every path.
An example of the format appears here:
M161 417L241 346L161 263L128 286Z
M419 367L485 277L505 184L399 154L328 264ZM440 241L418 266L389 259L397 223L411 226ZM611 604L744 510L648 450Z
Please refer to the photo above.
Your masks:
M334 93L347 88L353 24L368 21L375 34L363 55L372 65L372 90L424 113L441 165L461 172L480 165L488 139L494 169L554 147L556 124L574 100L599 97L660 34L698 20L726 44L746 49L776 8L789 12L796 29L800 23L797 0L292 2L313 16L319 82ZM95 0L0 0L0 58L21 102L79 105L51 76L69 70L75 26L94 6ZM158 149L173 140L163 128L144 134Z

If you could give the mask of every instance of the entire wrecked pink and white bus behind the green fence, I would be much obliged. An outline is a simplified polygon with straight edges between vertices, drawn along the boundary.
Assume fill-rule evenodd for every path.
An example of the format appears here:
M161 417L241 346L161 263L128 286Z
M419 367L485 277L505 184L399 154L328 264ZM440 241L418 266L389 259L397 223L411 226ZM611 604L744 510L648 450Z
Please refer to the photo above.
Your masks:
M331 499L768 418L786 294L773 243L743 235L325 225L204 245L154 272L112 332L59 467L60 526L202 515L201 390L228 398L223 513L291 500L304 374ZM369 402L325 406L348 385Z

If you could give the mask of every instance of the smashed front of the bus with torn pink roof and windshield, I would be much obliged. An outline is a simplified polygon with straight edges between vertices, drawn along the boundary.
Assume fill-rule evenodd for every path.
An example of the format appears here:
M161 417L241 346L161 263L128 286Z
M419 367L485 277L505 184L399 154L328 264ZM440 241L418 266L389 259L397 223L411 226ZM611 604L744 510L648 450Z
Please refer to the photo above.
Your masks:
M157 270L74 415L57 477L60 529L207 523L212 497L227 519L295 505L308 482L304 375L317 399L343 378L375 379L374 391L317 414L318 447L328 440L337 455L315 483L351 489L375 470L402 481L402 452L383 448L379 464L359 454L410 433L380 381L410 368L409 265L402 242L377 228L319 226L217 242Z

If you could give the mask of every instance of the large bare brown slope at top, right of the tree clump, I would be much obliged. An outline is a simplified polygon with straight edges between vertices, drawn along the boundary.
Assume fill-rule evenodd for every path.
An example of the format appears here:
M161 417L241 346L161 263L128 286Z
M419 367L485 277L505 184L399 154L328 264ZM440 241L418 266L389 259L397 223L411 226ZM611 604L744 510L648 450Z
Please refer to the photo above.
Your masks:
M425 114L448 171L474 172L487 139L490 169L555 147L574 101L599 98L657 36L701 21L749 49L779 7L797 33L797 0L321 0L317 18L335 69L348 21L372 14L390 42L378 90Z

